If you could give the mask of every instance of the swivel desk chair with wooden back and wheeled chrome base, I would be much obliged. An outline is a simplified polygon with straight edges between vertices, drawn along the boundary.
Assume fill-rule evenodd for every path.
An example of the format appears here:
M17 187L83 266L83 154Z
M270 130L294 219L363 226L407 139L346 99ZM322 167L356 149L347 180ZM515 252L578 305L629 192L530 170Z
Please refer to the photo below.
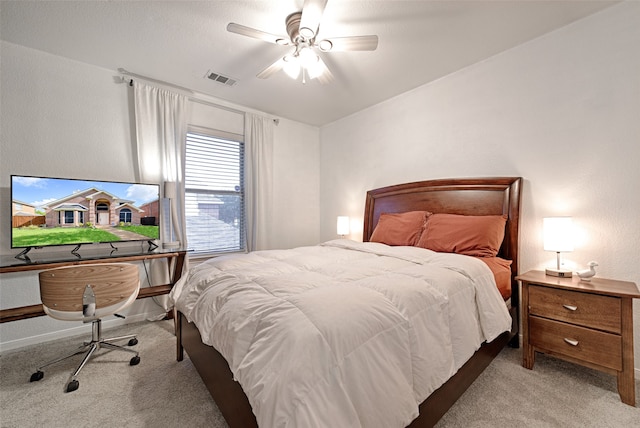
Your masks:
M138 343L135 335L102 338L101 318L117 315L116 312L131 305L140 290L138 266L127 263L96 263L42 271L40 279L40 299L44 311L52 318L64 321L91 323L91 341L85 342L75 352L49 361L31 375L31 382L44 377L42 369L51 364L84 353L84 358L67 383L66 392L78 389L77 376L94 352L100 348L134 353L129 364L140 362L138 352L113 344L114 341L129 339L128 345ZM121 315L117 315L122 317Z

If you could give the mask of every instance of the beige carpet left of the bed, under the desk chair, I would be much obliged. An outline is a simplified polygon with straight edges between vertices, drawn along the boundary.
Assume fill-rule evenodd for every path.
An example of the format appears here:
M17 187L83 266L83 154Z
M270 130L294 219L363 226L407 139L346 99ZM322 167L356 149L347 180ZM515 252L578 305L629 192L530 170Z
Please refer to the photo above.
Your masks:
M88 327L87 337L91 337ZM80 372L80 388L65 393L80 360L71 359L29 382L43 362L73 351L86 337L29 346L0 356L0 426L226 427L198 373L175 359L173 321L142 322L106 330L104 337L136 332L140 364L124 352L100 350Z

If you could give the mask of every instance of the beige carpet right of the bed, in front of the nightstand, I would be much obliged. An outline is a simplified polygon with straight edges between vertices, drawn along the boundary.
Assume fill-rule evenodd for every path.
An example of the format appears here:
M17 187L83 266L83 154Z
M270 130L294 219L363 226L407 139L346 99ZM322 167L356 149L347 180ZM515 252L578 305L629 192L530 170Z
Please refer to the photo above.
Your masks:
M541 354L533 370L521 363L521 349L505 348L437 427L640 428L640 409L620 401L614 376Z

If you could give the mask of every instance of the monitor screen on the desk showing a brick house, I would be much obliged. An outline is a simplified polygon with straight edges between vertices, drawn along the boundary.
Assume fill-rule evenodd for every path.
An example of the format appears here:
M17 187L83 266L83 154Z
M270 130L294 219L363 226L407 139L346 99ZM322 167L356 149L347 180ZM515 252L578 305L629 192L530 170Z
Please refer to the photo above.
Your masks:
M160 238L158 184L11 176L11 248Z

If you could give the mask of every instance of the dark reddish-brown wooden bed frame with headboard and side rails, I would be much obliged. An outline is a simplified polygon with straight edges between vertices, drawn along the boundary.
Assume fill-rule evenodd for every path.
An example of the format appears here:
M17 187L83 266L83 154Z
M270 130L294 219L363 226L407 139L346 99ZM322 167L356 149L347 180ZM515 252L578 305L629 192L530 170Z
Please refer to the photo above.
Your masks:
M381 213L425 210L432 213L465 215L507 215L505 238L498 255L512 260L511 332L485 343L458 372L434 391L421 405L411 428L433 427L456 400L509 343L518 346L518 223L520 215L519 177L430 180L384 187L367 192L363 240L368 241ZM211 396L231 428L257 427L251 405L224 357L202 343L193 323L176 315L177 359L184 350L198 370Z

